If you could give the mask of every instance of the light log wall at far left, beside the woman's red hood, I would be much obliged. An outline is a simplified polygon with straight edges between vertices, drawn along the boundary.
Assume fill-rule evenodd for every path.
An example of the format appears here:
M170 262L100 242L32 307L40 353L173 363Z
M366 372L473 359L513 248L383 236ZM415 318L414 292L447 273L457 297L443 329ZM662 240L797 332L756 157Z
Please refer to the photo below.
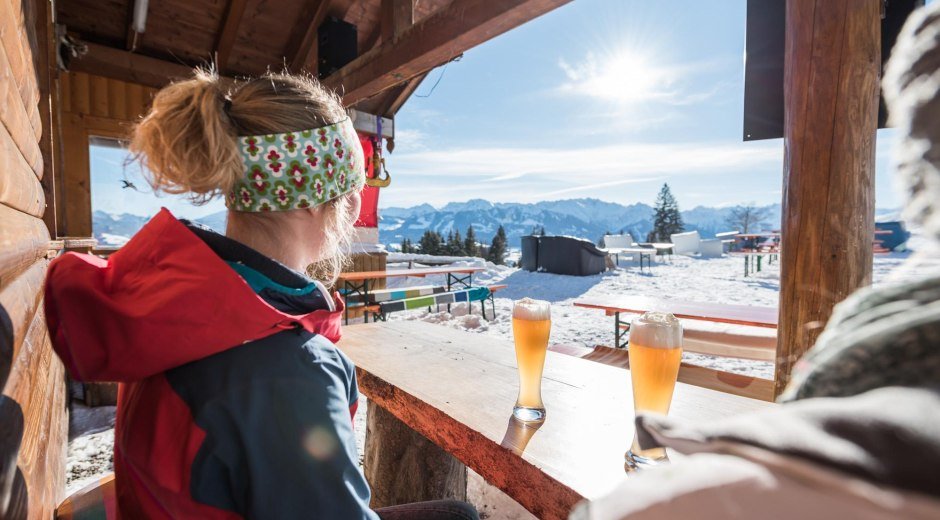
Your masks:
M65 370L42 313L57 253L43 221L52 174L40 144L51 142L48 7L0 0L0 518L10 519L51 518L65 491Z

